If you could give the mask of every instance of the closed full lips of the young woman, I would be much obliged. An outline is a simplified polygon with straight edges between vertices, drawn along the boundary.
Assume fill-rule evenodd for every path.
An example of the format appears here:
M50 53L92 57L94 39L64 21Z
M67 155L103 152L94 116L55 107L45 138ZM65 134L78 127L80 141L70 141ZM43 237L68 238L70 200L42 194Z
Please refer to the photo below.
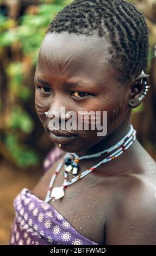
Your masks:
M73 135L71 132L63 130L50 130L50 138L54 143L58 144L68 144L77 138L76 135Z

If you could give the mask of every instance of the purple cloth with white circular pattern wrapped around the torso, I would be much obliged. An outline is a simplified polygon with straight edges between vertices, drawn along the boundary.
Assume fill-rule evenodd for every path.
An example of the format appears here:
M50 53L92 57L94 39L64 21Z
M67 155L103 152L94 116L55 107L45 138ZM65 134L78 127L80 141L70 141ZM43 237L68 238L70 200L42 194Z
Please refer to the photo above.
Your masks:
M63 153L53 148L43 162L45 171ZM9 245L98 245L78 233L59 212L28 188L14 199L15 218Z

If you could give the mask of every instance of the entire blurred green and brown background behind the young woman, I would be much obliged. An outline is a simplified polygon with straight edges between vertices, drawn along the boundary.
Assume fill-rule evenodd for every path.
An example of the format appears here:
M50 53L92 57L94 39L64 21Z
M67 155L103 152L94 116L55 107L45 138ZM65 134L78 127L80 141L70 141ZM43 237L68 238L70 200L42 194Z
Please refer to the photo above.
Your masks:
M53 17L70 0L0 0L0 245L8 245L13 199L31 189L54 147L34 107L34 74L40 44ZM151 88L132 115L137 138L156 160L156 0L134 0L149 29Z

